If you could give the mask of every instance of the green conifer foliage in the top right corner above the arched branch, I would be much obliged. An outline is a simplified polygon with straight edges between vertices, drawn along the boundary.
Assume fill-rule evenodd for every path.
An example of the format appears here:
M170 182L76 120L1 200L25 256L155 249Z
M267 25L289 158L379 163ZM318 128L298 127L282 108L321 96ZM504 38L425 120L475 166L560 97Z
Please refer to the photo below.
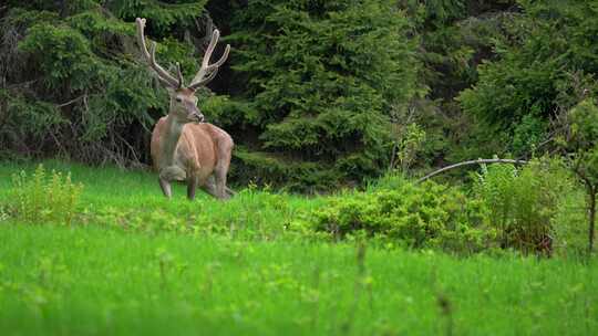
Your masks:
M519 133L507 144L515 150L525 145L522 133L537 140L543 122L557 108L575 105L579 87L596 87L598 71L596 2L518 2L522 13L512 15L504 39L494 40L497 57L478 67L480 81L458 97L467 114L487 122L488 133Z

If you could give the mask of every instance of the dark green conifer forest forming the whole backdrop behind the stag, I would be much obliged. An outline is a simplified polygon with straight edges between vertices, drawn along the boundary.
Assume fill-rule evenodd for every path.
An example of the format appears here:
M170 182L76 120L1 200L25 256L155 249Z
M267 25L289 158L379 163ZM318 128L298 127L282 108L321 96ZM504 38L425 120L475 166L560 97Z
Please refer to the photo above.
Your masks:
M4 0L1 157L151 164L167 95L136 17L187 77L212 29L231 44L199 104L237 144L237 183L315 192L526 159L558 150L568 111L597 111L597 1Z

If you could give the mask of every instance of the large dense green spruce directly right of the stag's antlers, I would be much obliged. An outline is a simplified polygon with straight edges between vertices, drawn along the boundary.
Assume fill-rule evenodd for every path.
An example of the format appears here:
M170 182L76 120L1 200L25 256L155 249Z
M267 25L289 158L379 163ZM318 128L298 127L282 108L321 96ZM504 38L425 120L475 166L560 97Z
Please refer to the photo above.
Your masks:
M379 0L257 0L231 31L245 124L260 150L318 162L338 180L380 172L390 105L420 93L402 11Z

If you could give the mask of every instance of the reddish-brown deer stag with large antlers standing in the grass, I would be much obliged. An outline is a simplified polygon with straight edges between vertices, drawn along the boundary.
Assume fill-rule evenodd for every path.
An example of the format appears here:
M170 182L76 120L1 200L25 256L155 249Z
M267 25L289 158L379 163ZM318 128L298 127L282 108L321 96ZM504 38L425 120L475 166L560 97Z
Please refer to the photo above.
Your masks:
M209 195L226 199L230 196L226 187L226 175L230 165L233 139L223 129L204 123L204 115L197 107L195 91L212 81L218 67L228 57L230 45L216 63L209 59L220 33L215 30L204 54L202 67L189 85L184 85L181 65L177 77L156 63L156 43L147 51L145 41L145 19L137 18L137 38L143 56L166 87L171 96L168 115L162 117L152 133L152 159L159 174L159 187L167 198L172 197L171 181L187 182L187 197L195 198L195 189L203 188Z

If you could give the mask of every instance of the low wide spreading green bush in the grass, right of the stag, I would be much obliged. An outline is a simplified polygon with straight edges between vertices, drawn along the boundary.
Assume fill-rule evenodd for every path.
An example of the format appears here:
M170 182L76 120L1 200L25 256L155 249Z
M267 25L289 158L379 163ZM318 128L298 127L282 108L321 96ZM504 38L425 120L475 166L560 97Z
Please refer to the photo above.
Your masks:
M331 198L309 221L338 239L364 233L415 249L476 252L494 240L484 209L458 189L402 179L393 189Z

